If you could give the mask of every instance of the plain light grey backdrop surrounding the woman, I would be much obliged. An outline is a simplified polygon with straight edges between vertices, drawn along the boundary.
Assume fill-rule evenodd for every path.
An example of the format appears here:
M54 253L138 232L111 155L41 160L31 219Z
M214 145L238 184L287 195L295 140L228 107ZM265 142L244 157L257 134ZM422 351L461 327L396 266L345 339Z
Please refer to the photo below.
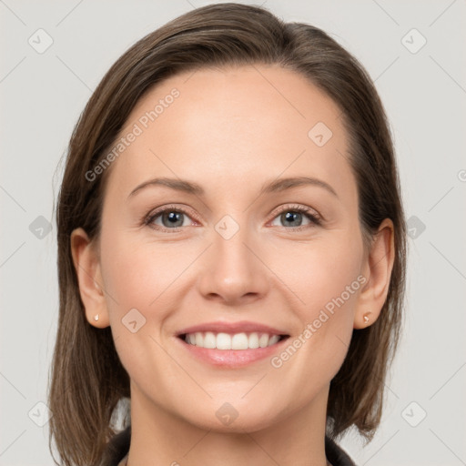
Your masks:
M77 117L128 46L208 3L0 0L1 465L53 464L47 424L37 425L46 407L36 403L46 402L56 335L59 161ZM360 465L466 464L465 2L264 5L323 28L368 69L410 218L407 313L380 431L365 448L353 433L341 444ZM39 28L53 39L42 54L28 43ZM427 40L416 53L412 28Z

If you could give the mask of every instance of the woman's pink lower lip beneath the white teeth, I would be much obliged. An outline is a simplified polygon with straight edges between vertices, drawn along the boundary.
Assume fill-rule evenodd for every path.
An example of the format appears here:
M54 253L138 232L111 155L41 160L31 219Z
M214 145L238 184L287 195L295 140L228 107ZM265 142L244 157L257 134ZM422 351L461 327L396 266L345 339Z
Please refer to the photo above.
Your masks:
M270 358L284 343L288 340L280 339L275 345L266 348L257 349L208 349L187 343L184 339L177 337L177 340L198 360L208 362L214 366L223 366L228 368L239 368L247 366L258 360Z

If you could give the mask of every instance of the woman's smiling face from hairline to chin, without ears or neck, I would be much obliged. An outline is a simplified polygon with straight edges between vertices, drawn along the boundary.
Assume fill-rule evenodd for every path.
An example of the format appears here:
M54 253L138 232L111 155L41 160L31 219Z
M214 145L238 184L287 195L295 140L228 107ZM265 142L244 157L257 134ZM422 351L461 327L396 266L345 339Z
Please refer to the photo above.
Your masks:
M367 270L339 108L279 66L205 69L153 88L121 136L98 246L132 400L229 431L321 404Z

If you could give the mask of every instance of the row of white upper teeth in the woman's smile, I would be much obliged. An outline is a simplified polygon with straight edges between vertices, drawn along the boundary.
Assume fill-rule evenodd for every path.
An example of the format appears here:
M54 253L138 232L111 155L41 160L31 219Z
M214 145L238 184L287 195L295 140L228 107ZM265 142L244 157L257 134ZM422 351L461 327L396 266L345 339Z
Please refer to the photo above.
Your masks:
M269 336L268 333L213 333L196 332L188 333L185 341L190 345L196 345L208 349L257 349L266 348L279 342L279 335Z

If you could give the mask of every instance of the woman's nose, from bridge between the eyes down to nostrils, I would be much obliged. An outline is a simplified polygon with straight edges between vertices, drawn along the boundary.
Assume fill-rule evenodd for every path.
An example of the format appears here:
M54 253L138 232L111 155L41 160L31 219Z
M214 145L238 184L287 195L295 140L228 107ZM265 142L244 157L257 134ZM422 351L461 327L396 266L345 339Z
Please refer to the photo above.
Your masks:
M254 251L258 238L248 224L246 212L235 218L225 215L214 225L208 264L200 280L203 294L237 301L266 291L267 268Z

